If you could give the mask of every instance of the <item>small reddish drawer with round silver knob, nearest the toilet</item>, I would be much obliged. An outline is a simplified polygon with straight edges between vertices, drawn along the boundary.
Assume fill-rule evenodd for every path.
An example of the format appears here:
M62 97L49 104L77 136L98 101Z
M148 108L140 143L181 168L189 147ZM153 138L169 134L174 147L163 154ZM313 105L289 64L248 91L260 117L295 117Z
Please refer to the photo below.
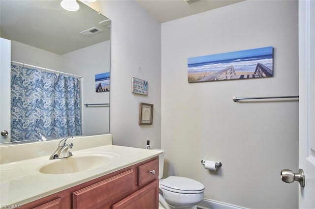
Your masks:
M157 179L158 179L158 159L152 160L138 167L137 184L139 187L142 187L146 185L147 183L150 183Z

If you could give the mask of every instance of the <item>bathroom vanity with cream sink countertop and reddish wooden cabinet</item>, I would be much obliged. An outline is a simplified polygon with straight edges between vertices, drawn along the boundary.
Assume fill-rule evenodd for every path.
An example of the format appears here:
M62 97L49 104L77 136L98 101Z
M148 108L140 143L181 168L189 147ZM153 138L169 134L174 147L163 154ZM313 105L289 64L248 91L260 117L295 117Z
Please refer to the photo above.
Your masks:
M112 145L111 135L106 145L99 140L102 146L86 149L84 139L80 140L72 140L78 147L71 150L72 158L49 160L44 156L1 162L0 205L25 209L158 208L159 151ZM2 161L10 150L0 149L4 151Z

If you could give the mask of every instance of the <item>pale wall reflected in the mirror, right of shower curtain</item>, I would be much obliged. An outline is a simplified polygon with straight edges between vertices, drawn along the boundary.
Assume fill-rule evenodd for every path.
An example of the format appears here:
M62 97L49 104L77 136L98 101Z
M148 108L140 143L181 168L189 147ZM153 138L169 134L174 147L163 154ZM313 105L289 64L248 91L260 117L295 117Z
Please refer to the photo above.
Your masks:
M83 78L83 104L109 103L110 92L95 92L95 74L110 71L110 41L104 41L80 50L62 55L62 71ZM83 134L109 132L109 107L83 106Z

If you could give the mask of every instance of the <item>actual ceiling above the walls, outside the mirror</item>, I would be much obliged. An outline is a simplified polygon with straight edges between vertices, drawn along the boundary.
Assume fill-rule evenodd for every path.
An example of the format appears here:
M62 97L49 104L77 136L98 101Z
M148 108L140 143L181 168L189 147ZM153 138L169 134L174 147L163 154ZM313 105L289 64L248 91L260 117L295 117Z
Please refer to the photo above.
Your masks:
M186 3L185 0L135 0L141 7L161 23L205 12L243 0L198 0Z

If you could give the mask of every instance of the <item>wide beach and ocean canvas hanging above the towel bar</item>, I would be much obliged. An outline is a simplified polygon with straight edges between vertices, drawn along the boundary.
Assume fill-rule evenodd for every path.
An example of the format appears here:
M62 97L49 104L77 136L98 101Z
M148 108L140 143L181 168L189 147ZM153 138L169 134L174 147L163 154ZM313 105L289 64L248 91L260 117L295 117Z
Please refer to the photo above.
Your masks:
M273 77L273 47L188 58L188 82Z

